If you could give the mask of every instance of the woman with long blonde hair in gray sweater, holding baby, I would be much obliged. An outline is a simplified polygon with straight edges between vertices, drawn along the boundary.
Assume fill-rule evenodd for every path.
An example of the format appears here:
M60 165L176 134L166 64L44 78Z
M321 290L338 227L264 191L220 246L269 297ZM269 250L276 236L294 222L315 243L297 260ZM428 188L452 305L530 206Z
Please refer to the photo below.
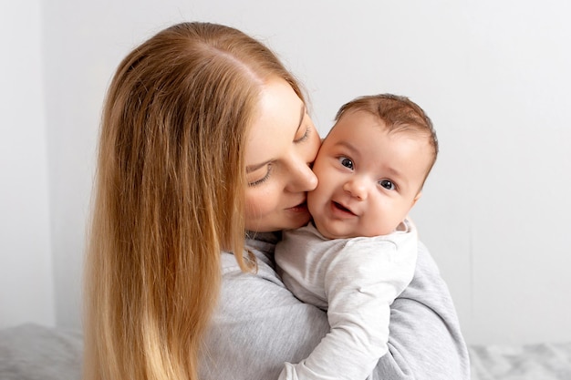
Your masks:
M99 141L86 379L271 379L313 349L327 315L285 290L272 232L309 221L319 142L295 78L233 28L171 26L123 60ZM373 377L467 378L450 294L419 261Z

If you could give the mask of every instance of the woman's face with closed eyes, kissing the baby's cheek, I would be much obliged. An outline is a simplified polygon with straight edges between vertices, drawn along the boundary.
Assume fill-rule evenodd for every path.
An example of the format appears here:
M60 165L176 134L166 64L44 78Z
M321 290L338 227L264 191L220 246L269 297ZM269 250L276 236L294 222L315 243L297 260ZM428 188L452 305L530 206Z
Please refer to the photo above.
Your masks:
M278 231L305 225L310 165L321 140L304 102L284 79L265 83L246 142L246 229Z

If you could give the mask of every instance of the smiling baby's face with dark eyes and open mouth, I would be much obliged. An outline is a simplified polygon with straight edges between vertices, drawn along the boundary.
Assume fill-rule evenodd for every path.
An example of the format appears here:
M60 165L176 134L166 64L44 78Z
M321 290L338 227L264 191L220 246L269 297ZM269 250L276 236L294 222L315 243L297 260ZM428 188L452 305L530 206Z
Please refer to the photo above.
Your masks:
M386 235L420 198L431 163L428 139L389 133L365 111L344 114L323 142L307 206L330 239Z

